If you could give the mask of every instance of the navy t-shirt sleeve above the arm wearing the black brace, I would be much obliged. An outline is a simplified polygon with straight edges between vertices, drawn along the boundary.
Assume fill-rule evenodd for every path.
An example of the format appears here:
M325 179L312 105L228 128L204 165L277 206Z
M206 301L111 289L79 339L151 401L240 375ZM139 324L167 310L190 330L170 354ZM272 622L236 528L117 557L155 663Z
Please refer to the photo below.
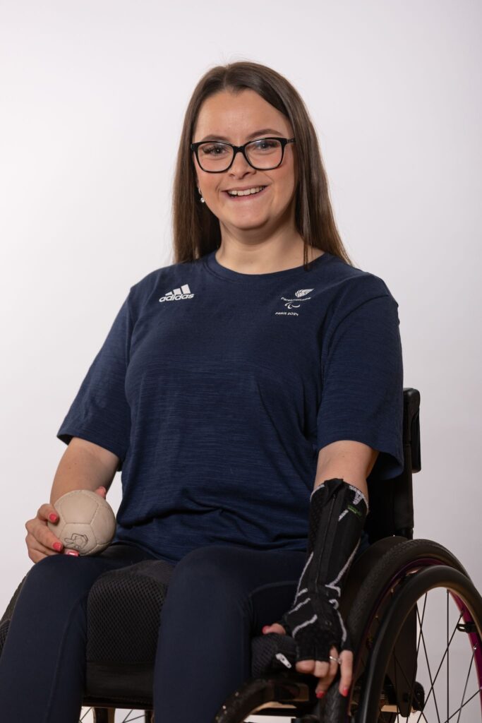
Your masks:
M378 479L401 474L404 463L397 307L390 292L356 294L350 304L339 304L323 341L317 449L338 440L363 442L379 450L370 475Z

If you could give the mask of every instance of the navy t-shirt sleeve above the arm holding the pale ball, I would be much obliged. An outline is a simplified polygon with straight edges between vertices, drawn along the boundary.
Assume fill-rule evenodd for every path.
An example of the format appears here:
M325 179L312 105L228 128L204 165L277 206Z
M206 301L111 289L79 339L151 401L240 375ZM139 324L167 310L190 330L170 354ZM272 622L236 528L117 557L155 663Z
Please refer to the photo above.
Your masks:
M131 335L129 291L56 435L67 445L72 437L81 437L116 454L117 471L129 447L131 415L124 385Z

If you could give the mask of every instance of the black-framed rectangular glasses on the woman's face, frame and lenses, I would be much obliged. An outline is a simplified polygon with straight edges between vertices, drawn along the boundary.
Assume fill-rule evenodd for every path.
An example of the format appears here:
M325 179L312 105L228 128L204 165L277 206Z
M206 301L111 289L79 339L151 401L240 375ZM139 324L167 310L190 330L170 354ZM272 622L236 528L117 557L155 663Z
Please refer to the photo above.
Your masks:
M220 140L205 140L191 143L197 163L208 174L222 174L233 165L236 153L242 153L251 168L257 171L271 171L283 162L285 146L294 143L294 138L257 138L244 145L233 145Z

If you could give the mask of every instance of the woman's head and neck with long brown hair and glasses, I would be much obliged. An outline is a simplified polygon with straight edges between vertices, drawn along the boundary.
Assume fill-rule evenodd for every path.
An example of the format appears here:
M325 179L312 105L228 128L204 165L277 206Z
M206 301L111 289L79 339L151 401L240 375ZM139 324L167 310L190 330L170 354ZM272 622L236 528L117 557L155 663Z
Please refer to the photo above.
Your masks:
M205 142L209 165L199 150ZM253 191L263 186L258 197ZM233 190L249 191L248 199L229 196ZM350 263L317 133L285 77L240 62L212 68L199 80L181 133L173 232L176 262L219 249L220 262L246 273L308 268L324 250Z

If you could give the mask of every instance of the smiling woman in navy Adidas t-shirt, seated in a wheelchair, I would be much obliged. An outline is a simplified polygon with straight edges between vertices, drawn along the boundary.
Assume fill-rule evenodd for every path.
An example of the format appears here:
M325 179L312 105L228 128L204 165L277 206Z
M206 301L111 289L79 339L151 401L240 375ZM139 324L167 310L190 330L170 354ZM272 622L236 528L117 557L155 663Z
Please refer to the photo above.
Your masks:
M199 81L173 210L176 262L130 288L59 429L50 504L26 523L36 564L0 658L0 710L19 723L78 719L88 591L150 558L169 581L156 719L211 722L262 630L295 638L320 695L339 666L348 693L337 601L366 546L366 478L403 469L397 302L351 265L314 127L270 68ZM105 496L116 470L113 544L59 554L53 502Z

